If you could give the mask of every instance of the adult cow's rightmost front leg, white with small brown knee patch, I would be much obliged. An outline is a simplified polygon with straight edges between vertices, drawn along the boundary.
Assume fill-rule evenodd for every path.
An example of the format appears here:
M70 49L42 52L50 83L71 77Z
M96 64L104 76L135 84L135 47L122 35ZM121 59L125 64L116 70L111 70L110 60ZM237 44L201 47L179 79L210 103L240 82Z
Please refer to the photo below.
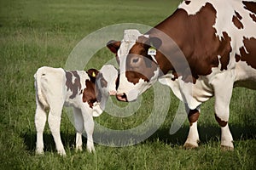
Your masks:
M212 82L215 95L215 118L221 127L221 147L224 150L234 150L233 138L228 125L233 82L231 74L220 75Z

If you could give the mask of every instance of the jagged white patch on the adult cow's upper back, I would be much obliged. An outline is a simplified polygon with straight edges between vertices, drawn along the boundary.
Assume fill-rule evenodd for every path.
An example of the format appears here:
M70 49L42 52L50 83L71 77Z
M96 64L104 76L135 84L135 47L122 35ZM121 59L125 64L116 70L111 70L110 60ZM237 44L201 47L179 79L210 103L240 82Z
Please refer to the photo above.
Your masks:
M229 37L231 37L231 56L240 54L239 48L244 46L243 38L256 37L256 23L253 22L250 17L250 14L252 13L244 8L241 1L212 1L212 5L217 11L216 23L213 26L217 31L216 35L221 39L221 37L223 37L223 32L227 32ZM223 6L225 6L225 8L223 8ZM236 7L236 12L241 15L240 21L243 26L241 29L238 29L232 21L233 16L236 16L234 7ZM232 62L235 62L234 58L232 59Z

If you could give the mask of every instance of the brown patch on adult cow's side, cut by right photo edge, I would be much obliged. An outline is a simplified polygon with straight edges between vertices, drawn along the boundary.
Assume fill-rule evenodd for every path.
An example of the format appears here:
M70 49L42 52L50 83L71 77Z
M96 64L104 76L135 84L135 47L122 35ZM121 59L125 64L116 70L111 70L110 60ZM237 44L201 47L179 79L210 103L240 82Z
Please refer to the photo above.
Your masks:
M243 37L243 44L244 47L239 48L241 55L236 54L236 62L246 61L247 65L256 69L256 39Z

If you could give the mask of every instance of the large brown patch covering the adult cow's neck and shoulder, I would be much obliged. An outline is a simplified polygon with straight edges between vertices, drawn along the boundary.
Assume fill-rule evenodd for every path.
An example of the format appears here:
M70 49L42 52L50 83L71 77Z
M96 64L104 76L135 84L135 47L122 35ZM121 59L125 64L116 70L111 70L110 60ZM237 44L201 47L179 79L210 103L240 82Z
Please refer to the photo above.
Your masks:
M156 29L172 37L189 63L189 68L184 67L182 56L177 53L179 51L177 46L172 45L172 42L169 44L163 42L161 50L166 51L165 54L172 54L172 56L156 56L159 59L161 71L164 73L174 71L174 67L171 65L175 65L178 77L183 76L183 81L195 83L199 76L211 74L212 67L218 67L219 62L222 71L227 69L230 62L231 38L227 32L222 32L221 37L216 36L217 31L214 28L216 14L217 11L211 3L206 3L199 12L191 15L183 8L178 8L169 18L155 26ZM237 17L240 18L240 14L237 14ZM157 34L154 35L154 31L149 35L157 37Z

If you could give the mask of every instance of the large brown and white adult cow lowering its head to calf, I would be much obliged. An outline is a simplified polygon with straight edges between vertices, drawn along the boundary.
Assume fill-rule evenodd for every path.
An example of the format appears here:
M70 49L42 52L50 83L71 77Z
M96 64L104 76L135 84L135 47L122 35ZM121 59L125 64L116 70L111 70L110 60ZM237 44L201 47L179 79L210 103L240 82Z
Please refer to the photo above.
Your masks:
M234 150L228 125L234 87L256 89L256 2L185 0L166 20L142 34L126 30L107 47L119 63L117 99L136 100L159 81L186 106L185 148L199 143L201 104L215 97L221 148Z

